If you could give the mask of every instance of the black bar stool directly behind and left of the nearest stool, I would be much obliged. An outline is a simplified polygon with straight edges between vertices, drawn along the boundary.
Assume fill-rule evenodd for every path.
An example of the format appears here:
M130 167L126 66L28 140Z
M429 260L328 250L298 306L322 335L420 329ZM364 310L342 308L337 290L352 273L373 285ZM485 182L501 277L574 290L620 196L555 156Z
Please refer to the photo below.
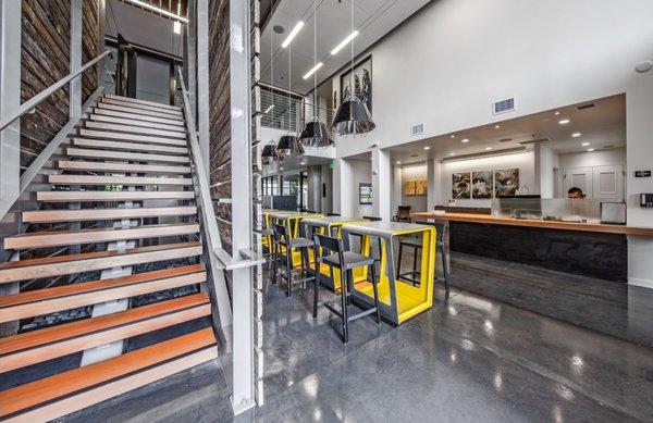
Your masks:
M285 261L285 275L282 273L281 277L286 279L287 283L287 290L286 290L286 296L291 297L291 295L293 294L293 284L298 284L298 283L306 283L306 282L310 282L310 281L315 281L316 276L315 273L311 272L309 270L309 257L308 257L308 249L309 248L313 248L315 244L312 240L308 239L308 238L301 238L301 237L297 237L294 239L291 239L291 237L288 236L287 229L285 226L280 225L278 223L274 223L272 225L272 232L273 232L273 244L274 244L274 273L273 273L273 283L276 284L276 274L278 272L278 268L276 268L276 263L279 262L279 259L283 259ZM283 250L285 249L285 253L283 253ZM301 252L301 270L299 272L299 278L293 281L293 269L294 263L293 263L293 250L299 250Z

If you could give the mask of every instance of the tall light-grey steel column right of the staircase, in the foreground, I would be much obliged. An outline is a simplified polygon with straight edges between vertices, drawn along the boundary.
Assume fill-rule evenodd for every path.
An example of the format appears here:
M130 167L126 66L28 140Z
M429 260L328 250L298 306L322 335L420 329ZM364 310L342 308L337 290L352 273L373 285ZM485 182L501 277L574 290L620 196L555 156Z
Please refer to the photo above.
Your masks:
M230 4L230 89L232 153L232 241L234 258L251 249L251 80L249 55L249 1ZM200 34L201 37L201 34ZM201 50L200 50L201 57ZM200 87L199 95L202 95ZM234 413L255 403L255 307L256 268L233 271L233 397Z

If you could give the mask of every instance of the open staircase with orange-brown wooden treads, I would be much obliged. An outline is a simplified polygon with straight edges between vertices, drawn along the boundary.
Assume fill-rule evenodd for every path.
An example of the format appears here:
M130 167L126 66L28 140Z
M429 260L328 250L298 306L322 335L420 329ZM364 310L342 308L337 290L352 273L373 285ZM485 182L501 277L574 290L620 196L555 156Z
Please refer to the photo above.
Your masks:
M52 420L218 354L181 109L106 95L62 153L22 213L35 231L3 240L28 258L0 264L21 285L0 323L22 324L0 338L0 420ZM30 323L71 310L93 313Z

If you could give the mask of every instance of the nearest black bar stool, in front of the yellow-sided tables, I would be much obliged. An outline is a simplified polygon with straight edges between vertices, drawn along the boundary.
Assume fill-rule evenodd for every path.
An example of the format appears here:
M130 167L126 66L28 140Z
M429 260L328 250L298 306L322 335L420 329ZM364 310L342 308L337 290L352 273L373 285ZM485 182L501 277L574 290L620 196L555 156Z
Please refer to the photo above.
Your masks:
M377 287L377 277L374 271L374 259L359 254L353 251L344 251L342 239L332 238L324 235L315 235L316 246L316 269L320 269L321 264L324 263L329 266L331 278L333 279L333 269L340 271L341 276L341 309L338 310L334 304L324 302L324 307L332 313L340 316L343 321L343 341L347 344L349 341L349 322L357 319L365 318L372 313L375 314L377 324L381 323L381 314L379 310L379 289ZM372 271L372 287L374 291L374 307L365 310L358 314L349 315L349 295L354 289L354 275L353 270L357 268L369 266ZM322 273L318 272L318 282L315 284L313 295L313 319L318 315L318 291L320 287L319 278Z

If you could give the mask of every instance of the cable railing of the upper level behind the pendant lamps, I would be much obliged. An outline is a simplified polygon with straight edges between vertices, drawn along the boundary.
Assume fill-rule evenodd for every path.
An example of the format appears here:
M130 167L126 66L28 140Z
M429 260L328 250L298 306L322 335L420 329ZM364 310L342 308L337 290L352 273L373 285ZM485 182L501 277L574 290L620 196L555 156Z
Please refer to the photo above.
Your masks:
M334 111L324 107L313 107L305 99L288 98L287 95L261 89L261 125L299 133L307 121L316 115L331 126Z

